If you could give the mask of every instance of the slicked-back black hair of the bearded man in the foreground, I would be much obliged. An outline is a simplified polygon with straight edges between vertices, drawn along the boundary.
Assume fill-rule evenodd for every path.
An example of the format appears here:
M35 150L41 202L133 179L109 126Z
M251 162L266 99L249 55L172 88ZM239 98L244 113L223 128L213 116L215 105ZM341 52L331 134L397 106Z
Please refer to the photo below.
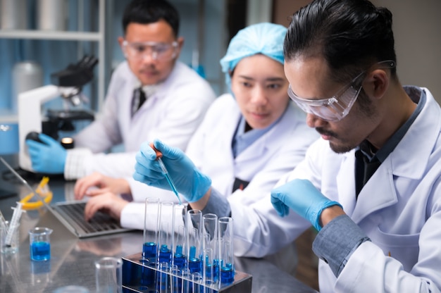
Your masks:
M392 13L367 0L314 0L292 15L283 51L285 61L323 56L331 78L347 81L375 62L396 61Z

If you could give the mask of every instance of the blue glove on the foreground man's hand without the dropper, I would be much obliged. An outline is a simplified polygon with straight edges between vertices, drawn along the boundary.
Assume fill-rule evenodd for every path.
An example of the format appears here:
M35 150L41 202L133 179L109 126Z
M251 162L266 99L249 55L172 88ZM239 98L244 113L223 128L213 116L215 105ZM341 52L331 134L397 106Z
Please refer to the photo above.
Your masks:
M331 201L312 185L309 180L294 179L271 190L271 204L282 217L290 213L290 208L318 230L321 230L321 212L330 206L342 206Z

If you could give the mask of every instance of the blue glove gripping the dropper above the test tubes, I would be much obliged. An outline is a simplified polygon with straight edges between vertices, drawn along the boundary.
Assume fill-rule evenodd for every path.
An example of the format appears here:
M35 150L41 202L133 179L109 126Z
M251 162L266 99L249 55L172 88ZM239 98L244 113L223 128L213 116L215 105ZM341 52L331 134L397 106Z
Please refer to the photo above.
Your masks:
M154 146L162 153L162 161L170 174L176 189L187 201L198 201L211 187L210 177L202 174L194 163L178 148L167 146L159 139L154 140ZM136 155L135 174L133 178L147 185L171 190L163 174L156 153L148 142L141 145Z

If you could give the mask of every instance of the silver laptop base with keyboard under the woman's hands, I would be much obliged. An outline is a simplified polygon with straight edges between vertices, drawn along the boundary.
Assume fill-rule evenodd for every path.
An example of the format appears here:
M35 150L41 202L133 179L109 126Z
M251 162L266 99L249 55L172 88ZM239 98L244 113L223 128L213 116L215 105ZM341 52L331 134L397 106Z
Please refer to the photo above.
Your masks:
M48 205L49 206L49 205ZM85 220L86 201L57 202L49 211L79 238L126 232L133 229L121 227L118 220L98 211L89 221Z

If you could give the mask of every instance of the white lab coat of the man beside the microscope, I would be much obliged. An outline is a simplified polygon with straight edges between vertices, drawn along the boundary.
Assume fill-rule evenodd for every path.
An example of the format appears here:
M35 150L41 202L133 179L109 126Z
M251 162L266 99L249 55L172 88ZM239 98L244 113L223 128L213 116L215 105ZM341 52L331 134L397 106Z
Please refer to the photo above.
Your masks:
M95 154L83 159L80 172L70 173L77 164L75 154L68 152L65 177L75 179L97 171L113 177L130 176L134 172L135 154L142 142L159 138L171 146L185 150L216 94L206 80L179 61L159 90L131 116L132 94L137 77L124 62L116 68L108 87L103 113L75 137L75 146L87 147ZM103 154L122 143L125 153ZM80 174L78 174L80 173Z

